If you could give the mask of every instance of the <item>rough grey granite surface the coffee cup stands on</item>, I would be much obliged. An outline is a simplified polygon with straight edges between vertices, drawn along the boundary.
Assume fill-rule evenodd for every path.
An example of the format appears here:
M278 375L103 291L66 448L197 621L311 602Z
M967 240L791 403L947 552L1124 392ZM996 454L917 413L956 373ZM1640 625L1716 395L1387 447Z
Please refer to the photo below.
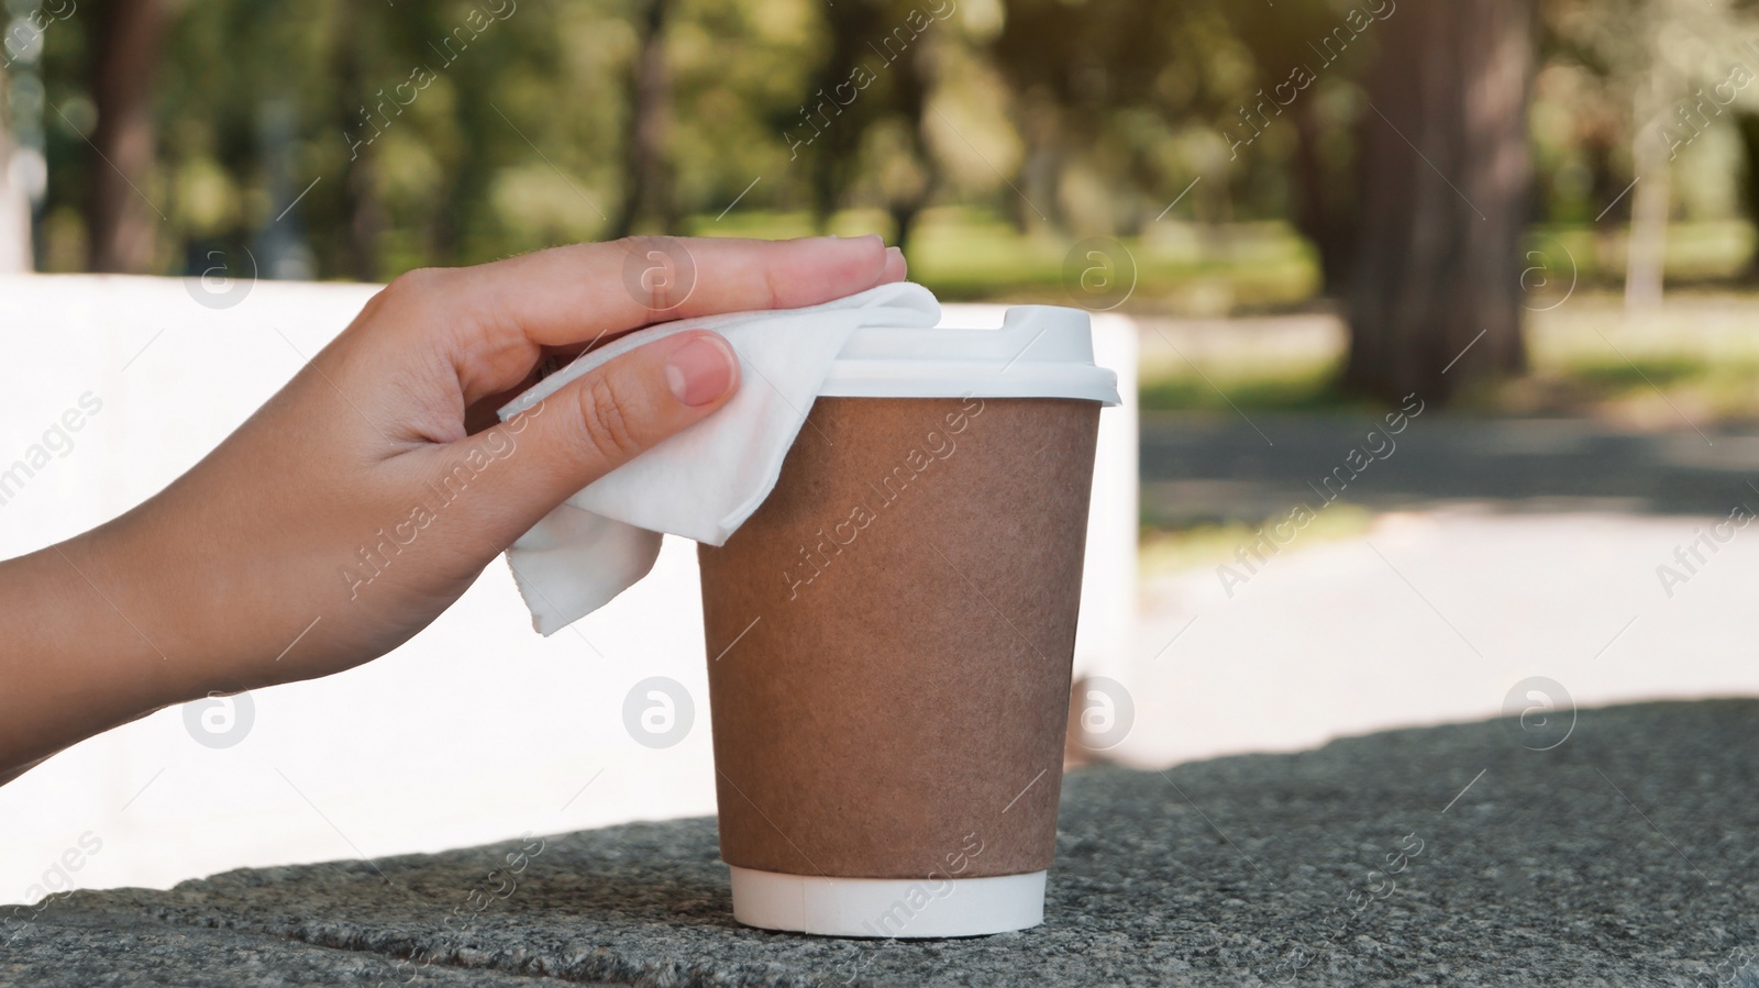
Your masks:
M684 819L76 893L7 928L0 983L1759 984L1759 701L1583 710L1534 751L1564 726L1078 772L1022 934L741 928Z

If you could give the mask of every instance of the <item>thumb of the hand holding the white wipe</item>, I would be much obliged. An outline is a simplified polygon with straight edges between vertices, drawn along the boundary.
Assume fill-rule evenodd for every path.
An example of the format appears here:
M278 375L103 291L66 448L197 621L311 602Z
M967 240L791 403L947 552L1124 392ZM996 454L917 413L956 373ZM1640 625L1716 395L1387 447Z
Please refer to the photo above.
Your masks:
M477 531L510 545L588 483L709 417L739 389L739 357L719 334L677 332L570 381L514 418L452 443L450 469L473 471ZM480 464L507 461L480 469Z

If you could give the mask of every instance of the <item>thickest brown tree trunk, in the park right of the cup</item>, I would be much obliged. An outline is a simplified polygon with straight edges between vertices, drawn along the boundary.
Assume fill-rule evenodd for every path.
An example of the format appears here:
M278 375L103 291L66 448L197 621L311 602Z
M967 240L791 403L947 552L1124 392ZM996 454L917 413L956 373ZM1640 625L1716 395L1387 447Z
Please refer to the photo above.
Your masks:
M1361 121L1344 385L1446 403L1472 380L1525 369L1534 9L1405 0L1384 26Z

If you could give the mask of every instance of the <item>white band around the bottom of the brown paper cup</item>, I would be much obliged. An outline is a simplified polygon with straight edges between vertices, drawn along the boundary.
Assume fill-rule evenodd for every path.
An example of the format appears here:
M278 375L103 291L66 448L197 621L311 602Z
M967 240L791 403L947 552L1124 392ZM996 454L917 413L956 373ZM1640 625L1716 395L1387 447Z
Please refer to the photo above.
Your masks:
M837 879L728 865L734 919L821 937L983 937L1045 921L1045 872L983 879Z

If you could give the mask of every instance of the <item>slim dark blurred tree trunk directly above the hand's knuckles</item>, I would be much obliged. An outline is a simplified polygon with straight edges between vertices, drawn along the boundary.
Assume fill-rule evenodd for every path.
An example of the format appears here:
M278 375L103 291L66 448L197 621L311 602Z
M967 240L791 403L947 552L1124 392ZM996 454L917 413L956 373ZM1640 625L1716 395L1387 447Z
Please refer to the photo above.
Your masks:
M640 46L630 76L630 120L623 139L623 207L610 225L612 237L635 232L642 218L658 220L661 230L677 227L672 199L672 76L665 60L665 25L670 0L646 0L640 18Z

